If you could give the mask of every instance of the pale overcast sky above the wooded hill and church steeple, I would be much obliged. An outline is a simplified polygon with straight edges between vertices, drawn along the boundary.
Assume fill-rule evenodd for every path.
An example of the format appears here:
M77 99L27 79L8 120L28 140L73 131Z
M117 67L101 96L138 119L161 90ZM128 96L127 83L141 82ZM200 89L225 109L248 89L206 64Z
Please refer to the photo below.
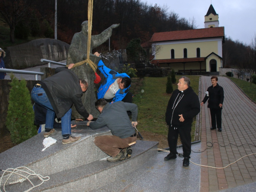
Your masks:
M256 33L256 0L141 0L159 7L168 7L186 19L195 18L198 29L204 28L204 15L210 4L219 15L219 27L225 35L249 45Z

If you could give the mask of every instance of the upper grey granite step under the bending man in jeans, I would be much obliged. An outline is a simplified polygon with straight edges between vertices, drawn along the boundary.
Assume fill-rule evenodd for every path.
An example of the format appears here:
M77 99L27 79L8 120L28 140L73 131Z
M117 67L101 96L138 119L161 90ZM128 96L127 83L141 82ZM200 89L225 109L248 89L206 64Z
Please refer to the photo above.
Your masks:
M1 153L0 169L26 166L37 174L49 175L91 163L107 156L95 146L94 137L111 135L111 132L108 127L92 130L86 126L86 122L79 122L77 127L72 129L73 136L81 136L79 141L62 144L62 135L59 129L50 136L57 142L42 152L44 148L42 142L45 139L43 134L37 134Z

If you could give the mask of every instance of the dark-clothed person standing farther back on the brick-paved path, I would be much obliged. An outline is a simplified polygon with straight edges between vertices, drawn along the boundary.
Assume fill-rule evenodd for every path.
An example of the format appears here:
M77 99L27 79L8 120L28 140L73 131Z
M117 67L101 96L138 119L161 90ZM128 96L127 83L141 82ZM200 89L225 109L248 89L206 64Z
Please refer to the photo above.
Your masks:
M210 117L211 117L211 127L210 130L216 130L216 121L218 131L222 131L221 127L221 111L222 104L224 101L224 91L221 86L218 84L218 77L211 77L212 86L208 87L206 95L201 102L201 106L208 100L208 108L210 108Z

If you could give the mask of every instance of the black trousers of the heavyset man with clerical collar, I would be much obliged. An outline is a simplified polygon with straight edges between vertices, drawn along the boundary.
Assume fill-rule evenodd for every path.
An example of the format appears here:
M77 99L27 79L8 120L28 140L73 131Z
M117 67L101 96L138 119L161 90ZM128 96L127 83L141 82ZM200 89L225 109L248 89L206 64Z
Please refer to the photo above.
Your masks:
M168 144L170 153L177 154L177 141L180 134L182 142L183 156L189 157L191 154L191 125L185 127L169 126L168 131Z

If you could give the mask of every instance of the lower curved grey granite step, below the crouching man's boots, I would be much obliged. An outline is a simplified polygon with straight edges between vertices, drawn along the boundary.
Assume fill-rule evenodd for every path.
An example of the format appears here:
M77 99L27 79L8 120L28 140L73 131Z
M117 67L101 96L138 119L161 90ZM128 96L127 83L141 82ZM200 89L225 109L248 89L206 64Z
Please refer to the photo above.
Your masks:
M90 191L104 186L127 173L135 171L154 157L158 153L157 145L158 142L137 140L137 143L132 145L133 154L130 159L114 163L106 161L106 157L100 160L96 159L81 166L47 175L50 177L50 180L31 191ZM90 155L94 156L97 152L91 153ZM88 155L87 158L91 157ZM34 183L38 184L38 179ZM7 185L6 189L9 189L7 191L25 191L29 187L31 187L30 183L24 181L23 183Z

